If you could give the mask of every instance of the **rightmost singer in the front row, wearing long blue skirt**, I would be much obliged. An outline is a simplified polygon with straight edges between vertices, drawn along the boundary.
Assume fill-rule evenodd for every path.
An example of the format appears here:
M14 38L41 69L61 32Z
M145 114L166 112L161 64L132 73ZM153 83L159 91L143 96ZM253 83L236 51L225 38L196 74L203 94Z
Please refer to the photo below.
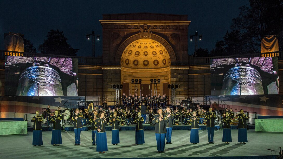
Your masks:
M245 144L246 142L248 142L246 122L248 120L248 117L246 116L246 114L244 114L243 109L241 109L240 114L238 114L238 120L238 142Z

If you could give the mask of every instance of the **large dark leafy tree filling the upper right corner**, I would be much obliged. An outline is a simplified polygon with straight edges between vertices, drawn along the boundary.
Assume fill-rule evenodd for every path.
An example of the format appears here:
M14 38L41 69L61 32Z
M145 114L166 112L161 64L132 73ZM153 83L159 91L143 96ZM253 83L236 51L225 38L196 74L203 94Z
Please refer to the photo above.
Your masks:
M239 8L240 14L233 18L231 29L239 30L247 43L245 49L260 52L260 42L265 35L278 35L278 42L283 42L283 1L250 0L250 6ZM283 46L279 45L279 50Z

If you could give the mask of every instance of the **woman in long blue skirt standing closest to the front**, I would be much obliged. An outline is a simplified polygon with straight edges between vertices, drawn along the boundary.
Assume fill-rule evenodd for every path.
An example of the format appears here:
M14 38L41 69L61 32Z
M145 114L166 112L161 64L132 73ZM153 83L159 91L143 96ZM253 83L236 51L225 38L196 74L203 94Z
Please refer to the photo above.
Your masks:
M95 120L95 128L97 130L97 136L96 136L96 151L101 153L105 153L105 151L108 151L107 148L107 139L106 139L106 131L105 126L107 126L106 118L104 117L104 113L101 112L98 115L98 119Z

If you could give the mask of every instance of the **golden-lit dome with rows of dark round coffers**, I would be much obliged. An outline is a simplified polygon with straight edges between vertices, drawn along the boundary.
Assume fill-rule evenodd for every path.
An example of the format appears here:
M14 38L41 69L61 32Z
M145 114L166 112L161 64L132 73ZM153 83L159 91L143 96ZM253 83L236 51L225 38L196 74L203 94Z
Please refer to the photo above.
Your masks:
M126 68L164 68L170 66L170 63L166 48L151 39L132 42L121 57L121 66Z

